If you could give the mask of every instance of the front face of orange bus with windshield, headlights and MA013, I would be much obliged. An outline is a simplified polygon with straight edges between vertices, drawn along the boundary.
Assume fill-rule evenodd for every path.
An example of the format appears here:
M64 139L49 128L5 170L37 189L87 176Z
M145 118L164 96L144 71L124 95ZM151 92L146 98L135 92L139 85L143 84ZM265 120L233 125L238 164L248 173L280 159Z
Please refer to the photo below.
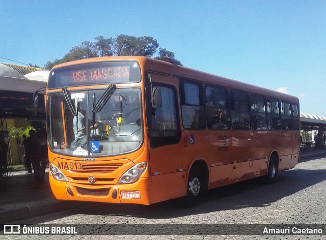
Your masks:
M131 59L51 70L49 181L57 199L149 204L142 92Z

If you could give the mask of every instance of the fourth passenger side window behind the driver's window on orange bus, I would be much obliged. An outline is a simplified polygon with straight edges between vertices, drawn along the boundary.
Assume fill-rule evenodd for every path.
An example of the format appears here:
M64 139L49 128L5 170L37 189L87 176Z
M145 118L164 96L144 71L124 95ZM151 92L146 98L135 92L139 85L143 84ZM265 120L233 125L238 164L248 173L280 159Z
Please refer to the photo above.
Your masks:
M252 94L251 101L251 127L253 130L267 130L267 116L265 98Z

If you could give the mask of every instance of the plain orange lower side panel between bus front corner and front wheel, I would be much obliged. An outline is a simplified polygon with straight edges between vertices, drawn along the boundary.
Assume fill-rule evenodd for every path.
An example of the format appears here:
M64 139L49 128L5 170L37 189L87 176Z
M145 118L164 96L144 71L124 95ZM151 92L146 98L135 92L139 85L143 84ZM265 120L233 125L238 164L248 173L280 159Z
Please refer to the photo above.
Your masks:
M183 171L151 176L150 203L185 196L186 173Z

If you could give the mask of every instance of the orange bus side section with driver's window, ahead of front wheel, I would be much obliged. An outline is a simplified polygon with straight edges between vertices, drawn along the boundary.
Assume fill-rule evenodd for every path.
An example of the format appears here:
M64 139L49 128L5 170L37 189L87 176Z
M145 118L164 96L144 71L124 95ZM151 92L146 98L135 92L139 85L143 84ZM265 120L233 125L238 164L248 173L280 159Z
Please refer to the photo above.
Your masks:
M153 203L183 196L180 189L185 189L185 177L177 91L173 85L178 79L155 73L148 78L145 95Z

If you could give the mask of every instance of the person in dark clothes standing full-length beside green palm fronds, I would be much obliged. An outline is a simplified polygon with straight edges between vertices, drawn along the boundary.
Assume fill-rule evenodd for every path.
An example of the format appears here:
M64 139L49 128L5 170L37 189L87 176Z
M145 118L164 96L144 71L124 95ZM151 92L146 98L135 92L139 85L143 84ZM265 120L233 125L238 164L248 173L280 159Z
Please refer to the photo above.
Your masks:
M31 129L29 131L30 137L26 138L26 155L31 160L34 169L34 178L36 182L43 182L41 177L41 151L40 141L35 134L35 131Z

